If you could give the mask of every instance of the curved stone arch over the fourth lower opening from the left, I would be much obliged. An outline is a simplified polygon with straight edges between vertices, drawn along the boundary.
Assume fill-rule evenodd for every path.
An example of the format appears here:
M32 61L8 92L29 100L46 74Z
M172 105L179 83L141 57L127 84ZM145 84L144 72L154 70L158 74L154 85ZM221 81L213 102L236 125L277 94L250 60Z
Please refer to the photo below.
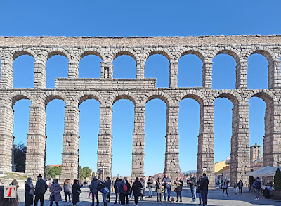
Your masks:
M114 94L111 94L107 98L105 103L108 106L112 106L115 102L119 101L120 99L128 99L133 103L133 105L136 105L139 102L138 96L136 96L136 94L133 94L129 91L117 91Z

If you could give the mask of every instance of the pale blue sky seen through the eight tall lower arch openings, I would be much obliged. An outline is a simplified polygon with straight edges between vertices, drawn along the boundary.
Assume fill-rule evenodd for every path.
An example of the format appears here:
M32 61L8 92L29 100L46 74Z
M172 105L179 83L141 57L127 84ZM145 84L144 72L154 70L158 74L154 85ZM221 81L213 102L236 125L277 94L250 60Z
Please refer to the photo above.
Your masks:
M264 115L266 104L261 98L249 101L250 145L263 146ZM15 144L27 143L29 100L15 103L13 136ZM86 100L79 105L79 165L96 171L100 110L98 101ZM182 172L197 169L198 131L200 105L192 99L179 103L178 133L180 134L179 158ZM227 98L214 101L214 161L230 157L233 103ZM61 164L65 103L55 99L46 106L46 165ZM119 100L112 106L112 176L131 176L133 146L134 105L129 100ZM145 106L145 175L164 171L166 104L159 99ZM261 151L263 149L261 148ZM120 167L122 165L122 167ZM22 171L21 171L22 172Z

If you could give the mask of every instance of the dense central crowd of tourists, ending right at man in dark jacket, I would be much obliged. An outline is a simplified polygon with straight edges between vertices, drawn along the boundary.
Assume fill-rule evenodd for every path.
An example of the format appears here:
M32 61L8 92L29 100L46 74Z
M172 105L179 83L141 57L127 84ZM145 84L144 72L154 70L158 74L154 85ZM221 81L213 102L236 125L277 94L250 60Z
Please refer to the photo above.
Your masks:
M107 178L109 179L109 177ZM98 184L99 182L103 185L102 181L93 178L91 181L91 185L89 186L91 194L92 194L92 205L94 206L95 199L96 205L99 205L98 202ZM135 205L138 205L139 200L145 200L145 190L148 188L148 198L152 198L152 188L153 188L154 180L151 176L146 179L145 176L141 178L136 178L134 181L129 181L126 177L124 179L115 179L112 183L112 187L115 191L115 202L114 204L127 205L129 204L129 199L134 198ZM207 204L207 194L208 194L208 185L209 180L206 174L197 181L194 174L191 174L190 179L188 179L188 184L190 186L190 190L192 193L192 202L196 202L196 193L198 193L198 197L200 198L200 205ZM155 191L157 193L157 202L162 202L162 198L164 198L164 202L171 200L171 188L174 185L174 191L176 192L176 202L183 202L181 192L183 191L183 180L178 177L174 182L171 181L167 174L164 174L164 177L158 177L155 181ZM108 187L107 187L108 188ZM101 188L100 188L101 189ZM100 191L103 193L103 191ZM110 202L110 190L106 193L107 199L104 202L104 206L107 205L107 202Z

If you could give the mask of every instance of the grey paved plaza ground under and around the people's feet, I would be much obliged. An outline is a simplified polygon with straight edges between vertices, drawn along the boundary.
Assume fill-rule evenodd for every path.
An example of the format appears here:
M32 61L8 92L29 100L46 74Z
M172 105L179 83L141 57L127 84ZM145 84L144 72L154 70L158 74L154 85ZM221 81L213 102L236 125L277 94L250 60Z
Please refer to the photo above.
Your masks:
M172 195L175 197L176 193L171 192ZM62 192L63 194L63 192ZM18 191L18 195L20 198L20 206L25 205L24 204L24 200L25 200L25 191L20 189ZM48 206L49 202L48 202L48 197L49 197L50 193L47 191L46 195L45 195L45 205ZM80 196L80 201L77 205L80 206L90 206L91 205L91 199L88 199L88 195L89 195L89 189L88 188L83 188L82 189L82 193ZM157 202L156 200L156 193L153 193L154 197L153 198L145 198L144 201L140 201L139 202L139 206L145 206L145 205L157 205L157 206L168 206L171 205L171 203L169 202ZM226 197L226 195L223 197L221 190L220 189L211 189L209 190L209 200L208 200L208 204L209 206L217 206L217 205L231 205L231 206L248 206L248 205L263 205L263 206L267 206L267 205L281 205L281 202L275 202L274 200L267 200L266 198L261 197L261 200L254 200L254 193L250 193L249 191L247 191L247 188L245 188L244 193L242 195L235 195L233 192L233 188L229 189L229 197ZM64 195L63 195L64 198ZM111 202L108 203L108 206L113 206L113 199L115 198L115 194L111 195ZM99 198L100 200L102 200L101 196ZM191 194L190 194L190 190L188 188L185 188L183 191L183 202L175 202L174 205L197 205L194 204L192 202L190 202L192 200L191 198ZM197 203L198 203L198 199L197 199ZM53 205L55 205L55 203L53 203ZM72 205L71 202L60 202L61 206L70 206ZM133 200L129 201L129 206L133 206ZM103 206L103 204L100 204L100 206Z

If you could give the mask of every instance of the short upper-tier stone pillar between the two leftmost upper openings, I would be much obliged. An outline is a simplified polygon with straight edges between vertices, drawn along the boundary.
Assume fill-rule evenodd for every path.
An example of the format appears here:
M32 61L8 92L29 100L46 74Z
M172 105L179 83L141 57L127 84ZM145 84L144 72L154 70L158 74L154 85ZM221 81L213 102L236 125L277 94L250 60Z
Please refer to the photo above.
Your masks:
M34 89L46 88L46 57L39 57L34 62Z

